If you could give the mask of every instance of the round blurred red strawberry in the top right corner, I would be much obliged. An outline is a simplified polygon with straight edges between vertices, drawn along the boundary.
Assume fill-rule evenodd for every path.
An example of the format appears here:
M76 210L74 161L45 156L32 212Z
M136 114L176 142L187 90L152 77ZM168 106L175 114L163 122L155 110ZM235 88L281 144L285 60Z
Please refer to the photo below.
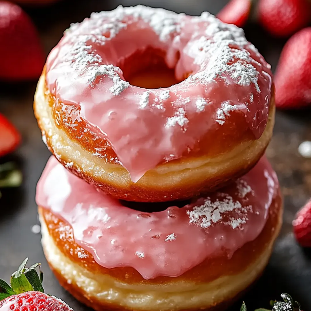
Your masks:
M309 0L259 0L258 19L272 35L287 37L311 21Z

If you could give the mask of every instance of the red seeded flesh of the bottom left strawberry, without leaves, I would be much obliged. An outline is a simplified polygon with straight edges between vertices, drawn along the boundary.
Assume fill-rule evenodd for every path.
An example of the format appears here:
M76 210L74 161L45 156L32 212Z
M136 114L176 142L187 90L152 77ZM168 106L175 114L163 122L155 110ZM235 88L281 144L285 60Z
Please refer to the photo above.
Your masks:
M45 293L29 291L0 301L0 311L72 311L61 299Z

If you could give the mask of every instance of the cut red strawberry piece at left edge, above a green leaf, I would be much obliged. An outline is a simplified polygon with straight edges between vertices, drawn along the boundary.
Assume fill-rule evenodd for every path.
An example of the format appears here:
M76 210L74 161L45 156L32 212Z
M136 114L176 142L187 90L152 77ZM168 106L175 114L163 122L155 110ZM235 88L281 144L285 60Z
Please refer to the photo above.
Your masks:
M0 156L13 151L20 142L21 136L17 129L0 114Z

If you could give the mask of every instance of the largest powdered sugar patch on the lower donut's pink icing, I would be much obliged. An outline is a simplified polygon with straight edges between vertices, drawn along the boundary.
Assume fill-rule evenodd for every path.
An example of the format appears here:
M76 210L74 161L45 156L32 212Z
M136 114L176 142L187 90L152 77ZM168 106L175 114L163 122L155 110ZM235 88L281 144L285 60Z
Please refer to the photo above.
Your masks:
M193 210L188 210L190 224L197 224L202 229L207 229L210 226L222 222L229 225L232 229L245 224L247 221L247 213L251 207L242 207L239 201L234 201L230 195L219 193L216 201L211 201L207 197L203 205L195 206ZM235 211L237 217L233 218L226 216L226 213Z

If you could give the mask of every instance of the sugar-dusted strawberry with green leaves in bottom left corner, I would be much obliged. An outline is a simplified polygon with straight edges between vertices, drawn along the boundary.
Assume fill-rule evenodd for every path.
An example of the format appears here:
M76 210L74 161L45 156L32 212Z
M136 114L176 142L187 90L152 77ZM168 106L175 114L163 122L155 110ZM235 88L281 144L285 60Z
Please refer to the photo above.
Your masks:
M44 293L43 274L38 276L35 264L26 268L26 258L12 274L11 286L0 280L0 311L72 311L62 300Z

